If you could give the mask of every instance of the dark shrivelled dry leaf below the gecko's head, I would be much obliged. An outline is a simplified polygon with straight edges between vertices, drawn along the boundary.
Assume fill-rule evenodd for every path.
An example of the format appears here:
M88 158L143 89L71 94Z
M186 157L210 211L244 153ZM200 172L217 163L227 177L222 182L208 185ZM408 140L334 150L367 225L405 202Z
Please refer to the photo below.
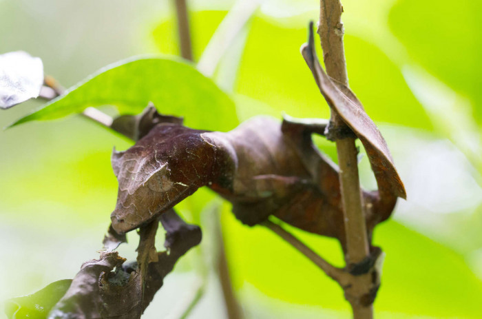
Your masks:
M167 231L169 252L156 251L158 220L153 220L139 230L134 263L125 263L116 251L103 252L99 260L85 263L48 318L140 318L178 258L201 240L200 228L185 223L172 209L161 223Z

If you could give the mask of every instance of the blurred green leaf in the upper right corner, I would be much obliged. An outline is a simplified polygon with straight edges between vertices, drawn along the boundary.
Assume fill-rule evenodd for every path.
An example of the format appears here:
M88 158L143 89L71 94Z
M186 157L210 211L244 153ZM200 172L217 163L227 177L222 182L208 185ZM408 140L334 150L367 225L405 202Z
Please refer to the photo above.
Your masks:
M482 123L482 1L401 0L389 15L392 32L410 57L468 96Z

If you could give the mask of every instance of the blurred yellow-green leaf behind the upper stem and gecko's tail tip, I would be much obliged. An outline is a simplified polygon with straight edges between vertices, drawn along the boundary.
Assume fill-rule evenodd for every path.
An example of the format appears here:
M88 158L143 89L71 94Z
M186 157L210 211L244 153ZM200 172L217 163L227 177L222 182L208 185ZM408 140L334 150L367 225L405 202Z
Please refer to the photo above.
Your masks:
M291 116L313 117L316 109L315 117L328 118L328 107L298 50L305 39L306 21L294 26L255 18L240 65L237 91ZM350 87L372 119L430 129L426 112L397 65L375 45L358 37L348 34L345 43Z

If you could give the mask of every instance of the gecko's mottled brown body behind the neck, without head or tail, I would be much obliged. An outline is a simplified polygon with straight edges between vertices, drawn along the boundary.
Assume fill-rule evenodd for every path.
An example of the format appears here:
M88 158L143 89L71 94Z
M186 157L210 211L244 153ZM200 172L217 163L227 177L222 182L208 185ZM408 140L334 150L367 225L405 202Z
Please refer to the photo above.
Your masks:
M257 116L228 133L213 132L233 147L237 167L231 189L211 185L233 204L235 216L255 225L274 215L315 234L338 238L345 231L337 166L319 153L316 127ZM396 196L380 200L364 192L368 231L390 216Z

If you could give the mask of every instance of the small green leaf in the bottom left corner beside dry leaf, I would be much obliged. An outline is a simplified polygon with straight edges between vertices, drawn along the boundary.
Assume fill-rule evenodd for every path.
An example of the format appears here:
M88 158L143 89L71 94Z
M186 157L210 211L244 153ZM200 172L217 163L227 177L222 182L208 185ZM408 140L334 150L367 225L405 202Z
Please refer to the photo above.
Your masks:
M5 302L5 313L8 319L44 319L65 295L72 280L64 279L52 282L34 294L12 298Z

